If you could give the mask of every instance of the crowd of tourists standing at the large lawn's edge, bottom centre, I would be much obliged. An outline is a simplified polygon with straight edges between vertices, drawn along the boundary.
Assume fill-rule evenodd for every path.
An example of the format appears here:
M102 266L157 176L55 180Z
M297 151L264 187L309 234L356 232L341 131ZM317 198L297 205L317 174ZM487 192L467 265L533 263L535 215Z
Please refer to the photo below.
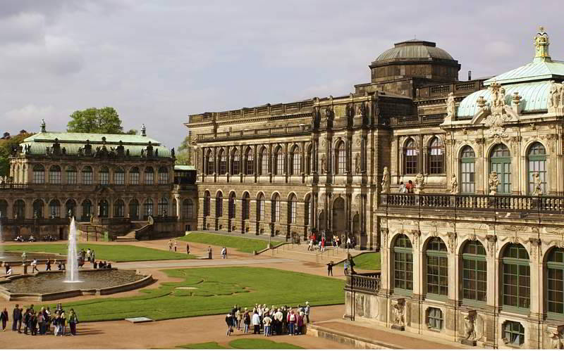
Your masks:
M270 308L266 304L255 304L255 307L238 307L235 305L231 312L225 317L227 324L227 335L231 336L235 328L238 331L243 327L243 333L273 335L292 335L297 336L305 333L305 324L309 323L311 307L309 302L305 306L298 305L293 307L272 305Z

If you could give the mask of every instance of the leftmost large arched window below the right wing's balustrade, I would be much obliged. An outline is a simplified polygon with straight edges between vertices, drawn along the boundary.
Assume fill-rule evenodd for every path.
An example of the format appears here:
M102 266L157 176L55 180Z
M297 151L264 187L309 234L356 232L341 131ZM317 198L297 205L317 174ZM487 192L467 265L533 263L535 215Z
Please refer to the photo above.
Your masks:
M393 243L393 288L398 291L413 291L413 248L405 234L396 237Z

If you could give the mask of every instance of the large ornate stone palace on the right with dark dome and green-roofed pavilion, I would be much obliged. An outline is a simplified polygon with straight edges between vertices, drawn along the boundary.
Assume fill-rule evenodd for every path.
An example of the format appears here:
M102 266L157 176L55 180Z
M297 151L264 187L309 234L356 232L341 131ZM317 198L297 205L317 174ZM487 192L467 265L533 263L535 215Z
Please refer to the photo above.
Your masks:
M541 28L531 63L460 82L410 40L348 96L190 115L198 229L354 236L381 272L348 276L345 317L562 348L564 63L548 44Z

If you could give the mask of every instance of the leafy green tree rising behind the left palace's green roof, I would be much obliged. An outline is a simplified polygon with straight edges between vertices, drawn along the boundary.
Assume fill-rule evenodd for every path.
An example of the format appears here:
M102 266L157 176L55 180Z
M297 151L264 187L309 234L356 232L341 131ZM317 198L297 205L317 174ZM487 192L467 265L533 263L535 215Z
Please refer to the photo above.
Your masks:
M71 121L66 125L67 132L101 133L101 134L136 134L135 129L123 132L121 119L115 108L87 108L78 110L71 115Z

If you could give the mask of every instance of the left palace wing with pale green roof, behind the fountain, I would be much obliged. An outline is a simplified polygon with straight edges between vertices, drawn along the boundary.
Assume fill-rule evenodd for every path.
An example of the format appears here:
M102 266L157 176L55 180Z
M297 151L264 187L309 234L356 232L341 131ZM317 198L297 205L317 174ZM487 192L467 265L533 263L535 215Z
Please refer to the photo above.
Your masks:
M197 223L195 170L174 165L174 150L141 135L41 132L10 155L0 182L5 240L21 235L66 238L78 229L150 238ZM88 234L87 234L88 235ZM98 239L96 237L96 239Z

